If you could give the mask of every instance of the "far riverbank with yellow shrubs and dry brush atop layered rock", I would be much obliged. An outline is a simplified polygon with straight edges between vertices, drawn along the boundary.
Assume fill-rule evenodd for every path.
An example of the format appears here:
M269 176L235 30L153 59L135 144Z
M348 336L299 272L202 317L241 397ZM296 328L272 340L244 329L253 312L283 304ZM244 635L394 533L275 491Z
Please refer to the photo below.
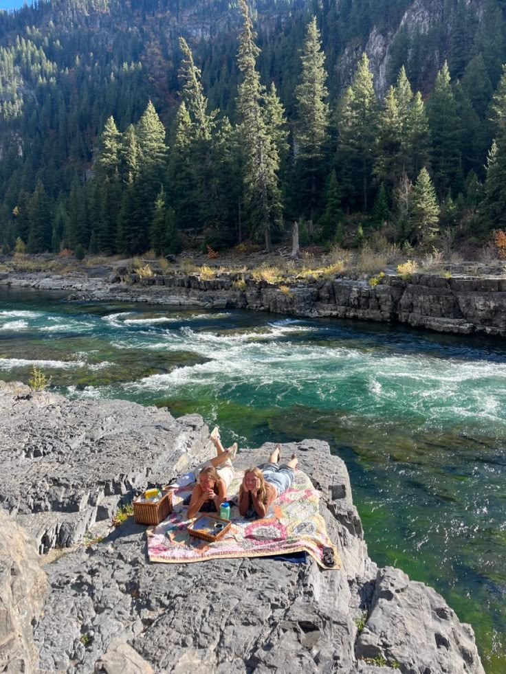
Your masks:
M0 258L0 285L70 291L68 300L119 300L269 311L298 317L401 323L440 333L506 337L505 265L446 259L436 249L407 257L395 246L329 253L316 247L294 258L242 246L219 254L179 256Z

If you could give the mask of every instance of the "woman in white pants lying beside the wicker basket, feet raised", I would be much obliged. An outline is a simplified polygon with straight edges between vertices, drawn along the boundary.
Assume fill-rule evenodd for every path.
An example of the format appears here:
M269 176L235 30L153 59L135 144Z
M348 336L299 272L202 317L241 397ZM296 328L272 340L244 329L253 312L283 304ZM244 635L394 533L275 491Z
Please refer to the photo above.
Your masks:
M217 456L200 464L195 469L197 484L193 488L188 519L197 513L219 513L219 506L227 499L227 489L234 477L232 460L237 453L237 443L229 449L223 449L218 429L211 433L211 440L216 447Z

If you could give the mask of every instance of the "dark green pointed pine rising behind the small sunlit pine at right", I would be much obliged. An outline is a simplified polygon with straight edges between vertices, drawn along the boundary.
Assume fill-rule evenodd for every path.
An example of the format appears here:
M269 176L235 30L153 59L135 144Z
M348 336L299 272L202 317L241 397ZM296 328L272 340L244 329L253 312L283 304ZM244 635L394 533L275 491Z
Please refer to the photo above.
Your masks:
M461 123L445 62L427 104L432 137L432 170L437 192L446 194L461 168Z

